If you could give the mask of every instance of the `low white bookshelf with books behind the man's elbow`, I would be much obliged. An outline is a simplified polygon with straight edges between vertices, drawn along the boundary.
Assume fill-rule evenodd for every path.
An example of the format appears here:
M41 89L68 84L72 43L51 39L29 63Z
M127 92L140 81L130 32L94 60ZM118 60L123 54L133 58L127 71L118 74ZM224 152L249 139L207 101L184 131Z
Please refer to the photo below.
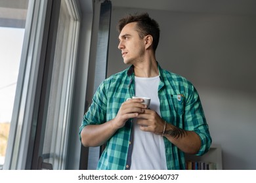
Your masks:
M187 169L223 169L221 145L211 144L203 156L185 154Z

